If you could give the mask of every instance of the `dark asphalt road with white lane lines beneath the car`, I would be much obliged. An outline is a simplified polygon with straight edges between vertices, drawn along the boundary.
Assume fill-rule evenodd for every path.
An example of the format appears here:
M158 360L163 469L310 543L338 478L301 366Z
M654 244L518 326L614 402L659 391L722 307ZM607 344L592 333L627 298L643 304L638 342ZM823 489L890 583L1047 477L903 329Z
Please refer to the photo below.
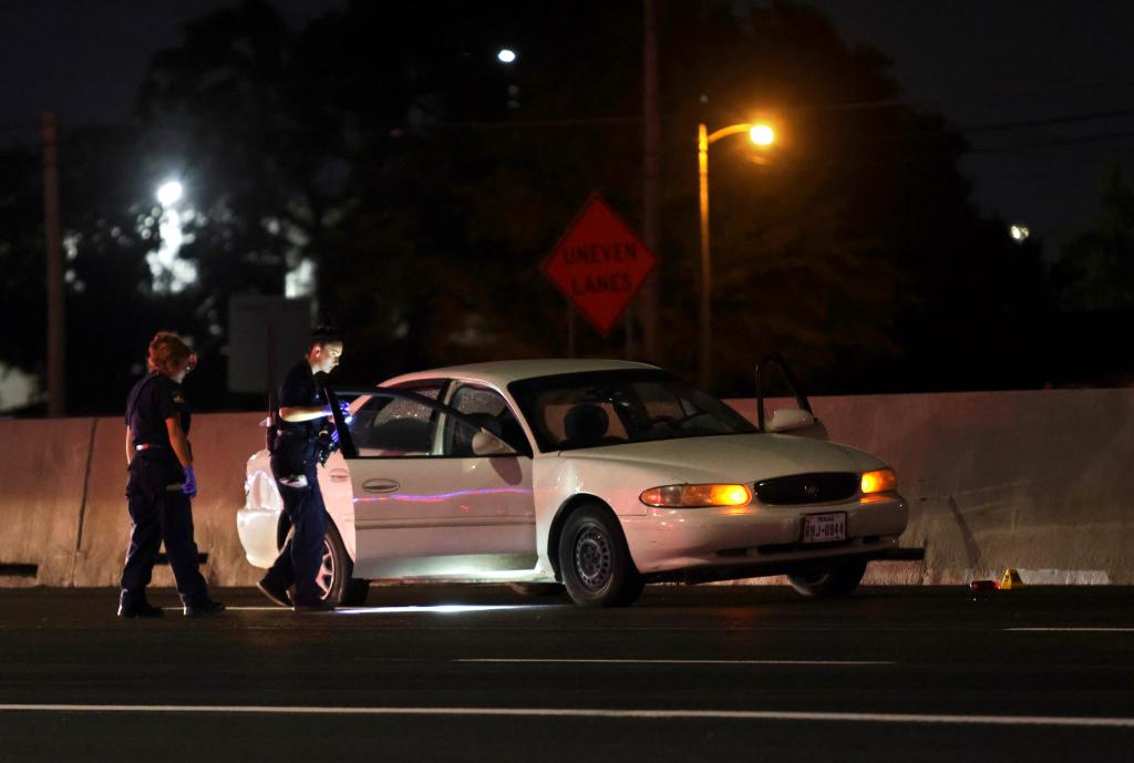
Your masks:
M214 595L121 621L111 591L0 590L0 761L1134 760L1131 588Z

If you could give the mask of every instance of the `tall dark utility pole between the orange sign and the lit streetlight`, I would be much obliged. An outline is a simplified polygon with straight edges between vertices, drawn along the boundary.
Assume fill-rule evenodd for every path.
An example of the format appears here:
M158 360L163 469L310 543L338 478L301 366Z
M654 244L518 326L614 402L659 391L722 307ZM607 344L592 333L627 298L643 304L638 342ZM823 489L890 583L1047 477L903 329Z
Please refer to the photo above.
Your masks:
M642 187L642 232L651 252L658 248L658 156L660 129L658 118L658 14L655 0L642 0L643 53L645 73L642 99L642 121L645 124ZM659 257L660 260L660 257ZM659 263L660 264L660 263ZM658 282L660 268L642 285L642 355L652 363L660 363L658 348Z

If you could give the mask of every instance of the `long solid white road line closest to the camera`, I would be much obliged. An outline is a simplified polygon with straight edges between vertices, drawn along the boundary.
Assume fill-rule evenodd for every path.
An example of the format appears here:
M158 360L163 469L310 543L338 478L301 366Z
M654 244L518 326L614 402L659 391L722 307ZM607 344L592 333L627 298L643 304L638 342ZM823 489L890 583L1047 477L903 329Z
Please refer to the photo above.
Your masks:
M287 705L33 705L0 704L0 712L194 713L261 715L454 715L610 718L642 720L828 721L837 723L948 723L1134 728L1134 718L1061 715L945 715L930 713L820 713L778 710L606 710L600 707L312 707Z

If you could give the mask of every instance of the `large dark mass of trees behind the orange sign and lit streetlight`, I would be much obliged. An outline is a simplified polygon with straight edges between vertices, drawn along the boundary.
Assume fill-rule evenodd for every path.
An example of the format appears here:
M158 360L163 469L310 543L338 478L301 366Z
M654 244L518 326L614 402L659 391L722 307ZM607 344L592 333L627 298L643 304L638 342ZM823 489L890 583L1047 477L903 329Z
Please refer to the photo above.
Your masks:
M304 273L359 381L561 355L568 311L540 262L591 190L641 219L640 14L359 0L293 31L246 0L194 20L154 58L139 126L73 154L76 315L191 333L209 370L194 397L215 407L242 401L223 385L228 298ZM769 109L785 137L771 161L741 139L711 152L716 391L751 393L770 350L814 391L1038 383L1017 334L1047 320L1039 249L974 211L964 141L902 102L885 56L787 0L662 3L659 37L667 365L695 368L696 124ZM146 264L152 189L175 171L197 274L176 293ZM621 354L620 329L578 333L584 354Z

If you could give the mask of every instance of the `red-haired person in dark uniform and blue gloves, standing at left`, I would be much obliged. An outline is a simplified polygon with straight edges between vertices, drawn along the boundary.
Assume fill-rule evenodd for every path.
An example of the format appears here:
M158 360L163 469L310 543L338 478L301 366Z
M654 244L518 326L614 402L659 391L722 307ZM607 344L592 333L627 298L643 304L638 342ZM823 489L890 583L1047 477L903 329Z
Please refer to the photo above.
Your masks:
M134 385L126 401L126 465L130 475L126 498L133 525L119 617L161 617L162 611L146 601L145 587L162 543L185 614L213 614L225 609L209 597L193 541L191 500L197 494L197 481L181 382L195 364L196 356L180 337L158 332L146 359L150 373Z

